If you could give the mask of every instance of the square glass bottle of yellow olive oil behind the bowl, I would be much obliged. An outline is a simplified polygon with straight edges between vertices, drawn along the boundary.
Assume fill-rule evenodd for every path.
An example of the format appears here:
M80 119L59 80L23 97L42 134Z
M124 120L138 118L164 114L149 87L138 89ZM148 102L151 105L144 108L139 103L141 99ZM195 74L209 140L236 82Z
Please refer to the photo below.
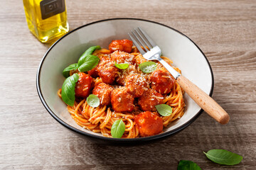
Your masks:
M31 33L41 42L51 42L68 33L65 0L23 0Z

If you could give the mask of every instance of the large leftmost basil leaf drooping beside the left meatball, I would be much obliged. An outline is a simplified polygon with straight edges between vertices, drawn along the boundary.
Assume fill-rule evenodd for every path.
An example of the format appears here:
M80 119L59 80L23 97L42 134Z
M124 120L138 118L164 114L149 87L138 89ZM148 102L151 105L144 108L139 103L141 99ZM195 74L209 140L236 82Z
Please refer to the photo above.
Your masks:
M75 103L75 83L78 81L78 79L78 74L73 74L65 79L61 88L61 98L69 106L73 106Z

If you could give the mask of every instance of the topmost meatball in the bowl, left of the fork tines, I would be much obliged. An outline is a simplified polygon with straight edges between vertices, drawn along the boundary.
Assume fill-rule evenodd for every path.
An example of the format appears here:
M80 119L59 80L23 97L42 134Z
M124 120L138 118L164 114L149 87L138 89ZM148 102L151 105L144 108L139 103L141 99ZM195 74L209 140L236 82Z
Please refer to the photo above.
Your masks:
M112 40L109 45L110 52L123 51L132 52L132 41L131 40Z

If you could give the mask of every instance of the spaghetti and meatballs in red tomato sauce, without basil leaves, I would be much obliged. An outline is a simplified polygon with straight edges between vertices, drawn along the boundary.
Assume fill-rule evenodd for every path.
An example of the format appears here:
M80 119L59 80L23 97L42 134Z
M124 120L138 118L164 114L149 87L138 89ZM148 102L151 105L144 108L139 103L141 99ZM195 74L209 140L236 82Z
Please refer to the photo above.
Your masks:
M148 61L132 46L132 41L113 40L109 49L95 50L92 55L100 58L96 67L88 72L70 71L70 75L78 73L79 79L75 84L75 103L68 106L68 112L82 128L112 137L113 123L122 119L122 138L146 137L161 133L184 114L184 92L174 77L159 62L154 72L142 72L139 64ZM162 58L172 64L169 58ZM123 63L129 67L115 66ZM88 105L89 94L100 99L100 106ZM61 89L58 96L61 98ZM159 104L171 106L171 115L159 115L155 107Z

